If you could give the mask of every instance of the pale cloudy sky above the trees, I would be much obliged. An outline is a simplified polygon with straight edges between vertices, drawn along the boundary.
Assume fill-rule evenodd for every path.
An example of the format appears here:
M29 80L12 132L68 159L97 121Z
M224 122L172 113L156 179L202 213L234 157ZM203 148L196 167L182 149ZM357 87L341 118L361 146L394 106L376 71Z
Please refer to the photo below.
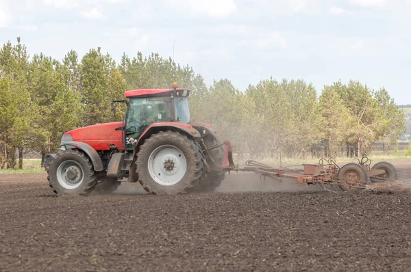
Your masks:
M207 85L350 79L411 104L411 0L0 0L0 43L30 55L159 53Z

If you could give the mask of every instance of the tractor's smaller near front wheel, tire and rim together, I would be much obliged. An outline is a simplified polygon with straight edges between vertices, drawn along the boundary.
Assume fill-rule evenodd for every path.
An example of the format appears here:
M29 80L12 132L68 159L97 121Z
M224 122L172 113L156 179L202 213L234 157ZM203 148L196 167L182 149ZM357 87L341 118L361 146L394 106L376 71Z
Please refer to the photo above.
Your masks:
M87 195L97 182L90 159L82 151L60 151L50 164L47 179L58 195Z

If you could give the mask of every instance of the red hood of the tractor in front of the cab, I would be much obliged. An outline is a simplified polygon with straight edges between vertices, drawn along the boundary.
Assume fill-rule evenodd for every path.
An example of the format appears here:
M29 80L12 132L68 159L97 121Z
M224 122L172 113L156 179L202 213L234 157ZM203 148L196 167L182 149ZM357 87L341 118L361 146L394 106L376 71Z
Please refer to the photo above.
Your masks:
M68 141L80 141L90 145L95 150L110 150L112 145L124 149L122 131L116 131L116 128L122 125L122 122L112 122L76 128L64 133L62 144Z

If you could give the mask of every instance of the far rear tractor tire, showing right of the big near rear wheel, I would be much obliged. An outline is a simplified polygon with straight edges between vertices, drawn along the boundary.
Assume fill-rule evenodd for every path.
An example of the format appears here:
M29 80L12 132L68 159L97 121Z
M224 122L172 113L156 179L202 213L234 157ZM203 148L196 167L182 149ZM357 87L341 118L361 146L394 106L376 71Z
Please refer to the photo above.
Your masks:
M208 148L216 144L223 144L223 142L220 141L219 137L208 135L204 138L204 144ZM201 178L199 185L195 187L193 191L194 193L211 193L221 185L221 182L225 178L225 171L221 169L221 165L223 165L224 146L219 146L209 152L216 165L210 165L212 171ZM211 160L208 161L212 164Z

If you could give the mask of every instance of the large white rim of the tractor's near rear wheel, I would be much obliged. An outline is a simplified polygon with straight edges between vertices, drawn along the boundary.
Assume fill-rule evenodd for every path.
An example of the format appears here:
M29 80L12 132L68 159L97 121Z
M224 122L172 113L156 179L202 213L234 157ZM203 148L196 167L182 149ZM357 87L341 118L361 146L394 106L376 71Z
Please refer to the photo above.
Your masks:
M159 146L151 152L148 168L151 178L158 184L164 186L175 185L186 174L186 157L175 146Z

